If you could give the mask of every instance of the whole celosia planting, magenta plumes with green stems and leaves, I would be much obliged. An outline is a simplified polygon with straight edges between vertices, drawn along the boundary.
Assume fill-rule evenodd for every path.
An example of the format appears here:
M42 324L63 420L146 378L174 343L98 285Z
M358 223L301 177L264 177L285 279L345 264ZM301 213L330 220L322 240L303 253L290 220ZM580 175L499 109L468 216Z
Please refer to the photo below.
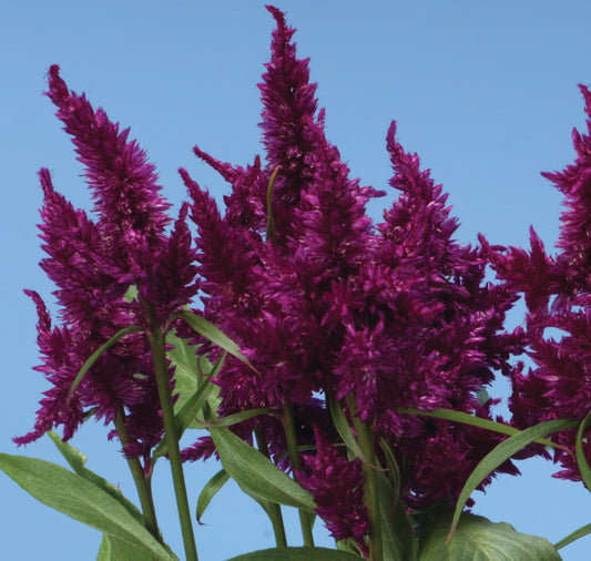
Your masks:
M276 29L259 85L265 156L233 166L195 147L232 191L221 212L181 170L190 202L172 227L154 166L129 130L51 67L48 96L95 203L92 215L75 210L40 172L41 266L57 285L61 325L27 290L39 315L37 369L52 387L32 431L14 440L62 427L63 439L50 434L73 472L8 455L0 467L101 530L101 559L177 559L159 532L151 491L167 456L185 555L196 560L183 462L213 453L223 470L205 486L198 516L231 477L273 524L277 548L240 559L428 561L476 549L560 559L547 540L462 510L495 473L519 473L511 459L548 457L548 448L561 477L591 480L591 136L575 136L574 166L549 175L567 202L556 258L534 233L531 254L483 237L475 247L455 241L447 195L403 149L395 123L386 143L399 195L374 224L365 206L384 192L349 176L325 136L294 30L268 10ZM520 293L527 330L508 332ZM549 339L548 327L565 335ZM536 365L528 374L516 360L523 353ZM498 400L486 388L496 376L513 385L508 420L492 418ZM112 425L141 511L67 443L89 417ZM180 450L187 429L208 435ZM94 497L94 507L64 502L59 484ZM282 504L299 510L304 548L288 547ZM314 514L336 550L314 545Z

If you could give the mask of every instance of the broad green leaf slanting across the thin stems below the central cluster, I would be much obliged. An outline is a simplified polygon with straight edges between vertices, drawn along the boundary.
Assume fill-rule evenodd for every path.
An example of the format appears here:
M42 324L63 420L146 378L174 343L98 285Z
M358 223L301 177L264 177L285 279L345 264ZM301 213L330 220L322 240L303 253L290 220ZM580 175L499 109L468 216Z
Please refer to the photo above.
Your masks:
M228 429L211 428L224 470L246 493L269 502L314 511L312 494L258 450Z

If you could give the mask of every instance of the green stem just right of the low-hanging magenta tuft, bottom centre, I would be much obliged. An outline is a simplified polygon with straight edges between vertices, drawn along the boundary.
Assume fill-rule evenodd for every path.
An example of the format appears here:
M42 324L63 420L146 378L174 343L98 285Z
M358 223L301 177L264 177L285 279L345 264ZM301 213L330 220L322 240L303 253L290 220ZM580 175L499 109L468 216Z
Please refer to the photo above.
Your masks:
M367 461L361 462L361 466L364 470L365 503L369 519L369 561L383 561L379 492L376 468L374 467L377 465L374 432L357 416L357 405L350 394L347 396L347 406L353 418L355 431L357 432L359 447L364 452L364 457L367 459Z

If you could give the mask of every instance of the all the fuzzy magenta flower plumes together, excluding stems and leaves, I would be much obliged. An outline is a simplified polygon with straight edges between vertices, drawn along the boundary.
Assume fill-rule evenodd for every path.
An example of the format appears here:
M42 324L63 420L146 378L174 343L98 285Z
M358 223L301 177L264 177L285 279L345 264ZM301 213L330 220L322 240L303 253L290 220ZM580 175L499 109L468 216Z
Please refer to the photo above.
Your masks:
M313 492L333 536L354 539L363 549L368 532L363 470L359 460L335 446L328 397L391 449L410 511L454 502L502 438L405 410L447 408L491 419L496 400L481 396L500 373L513 382L510 406L518 427L587 415L591 137L575 135L577 164L550 175L567 198L557 258L546 255L534 234L531 254L505 252L483 238L477 247L455 241L458 222L446 206L447 195L396 140L395 123L387 151L390 186L399 195L384 221L374 224L366 203L384 192L349 177L325 136L325 113L317 108L308 60L296 57L294 30L281 11L268 10L276 29L259 84L265 157L234 166L195 147L232 193L222 214L181 170L191 202L172 228L154 167L128 141L129 131L120 132L84 95L70 92L58 67L50 69L48 95L86 169L95 220L73 208L53 188L49 172L40 172L40 227L48 254L41 266L58 286L62 325L52 327L40 296L28 293L39 312L44 363L38 369L52 387L34 429L16 440L30 442L57 426L71 438L85 412L105 422L119 415L130 434L125 453L143 458L149 470L150 451L163 429L143 334L115 344L72 395L70 388L84 360L118 330L149 328L146 310L169 329L170 315L190 304L234 339L256 368L226 360L215 379L218 414L291 409L298 443L314 445L299 467L283 453L281 419L259 417L234 430L246 440L253 430L264 435L284 469L298 468L296 476ZM591 119L591 94L583 93ZM194 238L187 216L196 226ZM496 283L485 282L489 265L499 276ZM130 287L137 298L129 297ZM527 332L509 333L506 313L520 292L530 310ZM548 340L546 327L567 335ZM201 349L215 356L206 344ZM529 374L514 364L526 350L536 364ZM172 380L172 368L170 374ZM557 438L574 446L572 434ZM212 452L211 440L202 438L183 453L195 460ZM563 461L563 476L580 477L569 455L557 459ZM511 461L498 471L518 473Z

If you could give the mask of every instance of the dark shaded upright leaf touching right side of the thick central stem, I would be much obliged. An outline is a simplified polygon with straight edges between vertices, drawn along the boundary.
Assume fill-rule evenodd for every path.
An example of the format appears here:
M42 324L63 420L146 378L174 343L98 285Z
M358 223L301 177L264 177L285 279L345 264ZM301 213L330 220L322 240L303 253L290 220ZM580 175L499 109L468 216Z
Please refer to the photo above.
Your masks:
M415 561L417 538L403 501L396 500L393 486L384 472L377 472L380 496L381 545L388 561Z

